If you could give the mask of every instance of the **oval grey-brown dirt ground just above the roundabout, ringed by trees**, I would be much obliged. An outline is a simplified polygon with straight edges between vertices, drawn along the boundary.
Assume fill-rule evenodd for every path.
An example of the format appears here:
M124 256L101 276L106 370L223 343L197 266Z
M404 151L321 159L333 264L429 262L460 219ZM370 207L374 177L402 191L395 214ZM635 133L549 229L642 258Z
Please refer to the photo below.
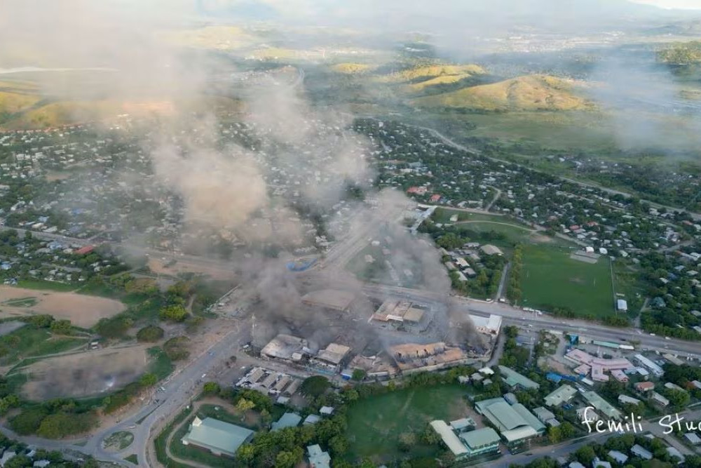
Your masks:
M100 349L57 356L32 364L22 387L27 399L41 401L59 396L82 398L114 392L133 382L147 368L147 347Z

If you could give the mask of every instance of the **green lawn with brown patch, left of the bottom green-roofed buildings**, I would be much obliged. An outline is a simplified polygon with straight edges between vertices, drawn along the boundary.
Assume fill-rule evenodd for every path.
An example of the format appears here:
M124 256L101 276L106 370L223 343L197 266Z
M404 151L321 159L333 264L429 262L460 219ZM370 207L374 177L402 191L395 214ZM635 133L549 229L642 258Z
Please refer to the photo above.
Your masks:
M400 452L400 434L421 435L430 421L456 420L465 417L467 403L465 387L441 385L404 389L363 399L348 410L348 431L351 443L348 453L355 458L373 457L375 462L391 461L395 457L430 457L437 447L417 444L408 454Z

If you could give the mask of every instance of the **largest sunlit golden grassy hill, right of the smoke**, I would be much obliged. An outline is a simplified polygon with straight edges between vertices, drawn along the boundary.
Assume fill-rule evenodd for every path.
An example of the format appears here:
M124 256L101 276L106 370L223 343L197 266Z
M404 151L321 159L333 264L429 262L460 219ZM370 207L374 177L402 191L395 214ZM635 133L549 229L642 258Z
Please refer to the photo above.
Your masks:
M583 110L592 104L572 83L547 75L518 76L411 100L418 107L460 107L482 111Z

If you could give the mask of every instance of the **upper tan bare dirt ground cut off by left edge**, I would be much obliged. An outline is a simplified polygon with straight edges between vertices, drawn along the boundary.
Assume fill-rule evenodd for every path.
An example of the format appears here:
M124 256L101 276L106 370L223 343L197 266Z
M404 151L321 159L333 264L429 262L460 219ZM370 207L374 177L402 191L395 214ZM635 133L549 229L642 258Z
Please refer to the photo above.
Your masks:
M7 303L29 297L36 300L36 304L30 307L13 307ZM114 316L124 309L121 302L106 297L0 286L0 318L50 314L56 319L69 319L76 326L90 328L100 319Z

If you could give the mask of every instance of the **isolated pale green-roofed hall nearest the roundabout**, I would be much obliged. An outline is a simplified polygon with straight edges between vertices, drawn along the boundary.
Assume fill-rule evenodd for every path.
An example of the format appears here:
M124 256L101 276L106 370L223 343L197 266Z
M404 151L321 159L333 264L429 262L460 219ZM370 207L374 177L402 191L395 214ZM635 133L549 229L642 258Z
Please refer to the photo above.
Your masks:
M236 450L252 437L253 431L245 427L215 420L212 417L205 417L203 420L195 417L190 424L190 430L182 438L182 443L186 446L206 448L215 455L233 457L236 455Z

